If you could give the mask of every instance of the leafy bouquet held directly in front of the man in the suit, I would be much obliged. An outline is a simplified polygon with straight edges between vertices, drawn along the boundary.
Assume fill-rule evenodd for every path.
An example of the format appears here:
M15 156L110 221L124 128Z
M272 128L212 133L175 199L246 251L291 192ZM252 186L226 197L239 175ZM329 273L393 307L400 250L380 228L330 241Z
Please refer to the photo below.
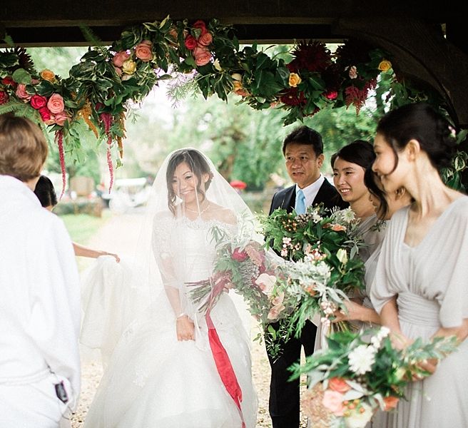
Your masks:
M317 205L297 215L278 209L260 221L266 245L290 259L279 267L283 275L278 280L300 300L290 327L299 335L305 320L316 313L329 326L347 295L364 287L364 263L356 257L363 243L353 211L329 213ZM338 327L346 329L347 323Z

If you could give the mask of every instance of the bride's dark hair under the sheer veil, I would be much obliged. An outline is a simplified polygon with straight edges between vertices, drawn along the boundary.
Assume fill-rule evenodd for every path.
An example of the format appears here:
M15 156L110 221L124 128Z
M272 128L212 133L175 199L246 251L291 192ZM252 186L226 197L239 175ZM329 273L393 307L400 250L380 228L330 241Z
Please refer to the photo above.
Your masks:
M168 186L168 207L171 210L171 213L175 215L175 199L176 195L172 187L172 180L175 173L175 168L180 165L180 163L187 163L190 167L190 170L195 177L198 178L197 192L202 195L202 200L205 199L205 190L208 190L210 187L211 179L213 178L213 173L210 170L210 165L206 161L205 157L198 151L193 149L183 149L176 151L172 154L171 158L168 161L168 169L166 170L166 183ZM202 175L208 174L208 181L203 186ZM202 188L203 187L203 188Z

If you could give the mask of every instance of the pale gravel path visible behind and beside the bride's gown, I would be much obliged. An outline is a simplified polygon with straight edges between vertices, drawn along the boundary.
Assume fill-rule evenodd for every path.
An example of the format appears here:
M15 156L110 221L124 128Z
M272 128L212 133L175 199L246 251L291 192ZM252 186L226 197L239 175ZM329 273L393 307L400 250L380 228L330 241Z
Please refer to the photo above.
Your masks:
M128 240L131 236L137 236L139 215L118 215L109 220L106 225L99 230L96 236L89 243L90 247L108 250L118 253L121 257L131 255L128 249ZM79 260L81 269L86 268L92 260ZM255 337L258 330L253 330ZM270 384L270 364L265 352L265 346L253 341L252 345L252 371L255 389L258 394L258 418L256 428L271 427L271 419L268 414L268 393ZM96 389L102 375L102 367L99 361L98 352L91 352L86 349L81 350L82 376L81 395L78 402L78 409L72 418L72 428L82 428L86 412L94 397ZM302 379L301 390L305 389L305 379ZM301 415L301 428L307 427L307 419ZM131 428L131 427L128 427ZM195 428L195 427L194 427ZM198 427L197 427L198 428Z

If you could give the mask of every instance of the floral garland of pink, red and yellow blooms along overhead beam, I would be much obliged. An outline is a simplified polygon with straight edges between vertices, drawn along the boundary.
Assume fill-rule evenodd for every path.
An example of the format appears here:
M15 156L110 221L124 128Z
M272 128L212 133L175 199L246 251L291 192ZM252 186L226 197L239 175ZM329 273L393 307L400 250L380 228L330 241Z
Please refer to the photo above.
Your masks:
M36 70L22 48L1 51L0 113L29 117L55 133L63 189L64 152L73 156L83 130L93 133L106 144L111 188L113 166L123 156L128 103L142 101L175 73L190 74L205 98L227 101L234 92L256 110L280 108L285 124L322 108L354 106L359 113L378 78L390 80L387 98L395 106L427 99L395 74L390 54L361 41L351 39L334 53L322 42L302 41L292 58L270 58L255 44L241 49L233 27L216 19L189 24L168 16L123 31L110 47L90 48L68 78Z

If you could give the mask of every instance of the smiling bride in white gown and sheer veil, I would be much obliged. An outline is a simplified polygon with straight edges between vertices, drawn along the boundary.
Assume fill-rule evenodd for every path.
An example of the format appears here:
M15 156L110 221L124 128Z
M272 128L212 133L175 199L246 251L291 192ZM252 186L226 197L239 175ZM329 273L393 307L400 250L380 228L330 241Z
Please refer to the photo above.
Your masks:
M166 158L138 241L141 267L119 302L138 301L136 316L113 348L86 428L255 427L250 341L233 300L223 292L205 316L190 299L190 282L213 274L213 226L235 234L241 215L253 218L200 151Z

